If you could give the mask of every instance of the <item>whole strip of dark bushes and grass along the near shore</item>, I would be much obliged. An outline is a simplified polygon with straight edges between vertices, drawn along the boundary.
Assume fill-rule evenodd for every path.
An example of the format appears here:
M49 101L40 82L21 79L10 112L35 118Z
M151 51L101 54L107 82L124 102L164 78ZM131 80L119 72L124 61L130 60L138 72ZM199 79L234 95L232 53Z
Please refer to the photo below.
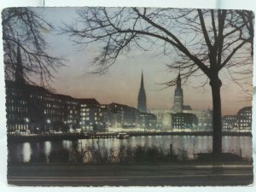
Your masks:
M163 144L152 146L137 145L132 147L130 143L121 144L119 148L107 148L102 146L99 140L92 140L90 145L82 147L78 141L73 141L71 146L60 149L51 148L49 154L39 152L32 153L29 163L69 163L85 165L137 165L137 164L163 164L211 161L211 151L207 154L194 154L189 159L188 153L183 148L164 147ZM243 160L236 154L223 154L222 161L250 161ZM17 163L15 157L9 157L9 163Z

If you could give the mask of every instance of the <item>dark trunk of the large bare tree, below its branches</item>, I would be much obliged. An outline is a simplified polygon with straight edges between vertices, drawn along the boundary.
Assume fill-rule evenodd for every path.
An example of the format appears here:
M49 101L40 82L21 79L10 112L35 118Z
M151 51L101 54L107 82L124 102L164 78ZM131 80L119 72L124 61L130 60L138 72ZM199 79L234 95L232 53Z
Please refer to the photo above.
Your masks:
M217 157L222 152L222 122L221 122L221 80L214 77L210 81L212 87L212 154Z

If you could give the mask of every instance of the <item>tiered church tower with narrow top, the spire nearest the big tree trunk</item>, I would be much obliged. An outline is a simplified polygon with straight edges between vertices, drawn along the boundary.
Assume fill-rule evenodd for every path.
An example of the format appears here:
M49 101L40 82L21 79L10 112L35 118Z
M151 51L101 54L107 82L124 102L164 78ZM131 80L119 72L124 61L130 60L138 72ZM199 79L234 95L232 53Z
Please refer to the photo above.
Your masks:
M177 75L177 87L174 93L174 105L172 107L174 113L183 112L183 89L181 87L180 73Z

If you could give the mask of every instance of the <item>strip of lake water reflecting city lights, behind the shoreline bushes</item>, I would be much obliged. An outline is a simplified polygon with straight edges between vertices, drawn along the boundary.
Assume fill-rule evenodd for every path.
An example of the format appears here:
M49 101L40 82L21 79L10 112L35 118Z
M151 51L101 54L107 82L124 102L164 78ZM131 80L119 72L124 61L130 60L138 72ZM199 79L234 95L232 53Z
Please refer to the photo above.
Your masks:
M252 137L223 137L223 152L241 154L242 157L252 159ZM75 144L76 143L76 144ZM188 157L192 159L197 153L207 153L212 151L212 137L209 136L151 136L151 137L130 137L129 139L119 140L110 139L79 139L77 141L63 140L61 142L41 142L41 143L9 143L9 161L29 162L32 155L45 154L49 161L51 150L61 148L77 148L79 151L92 145L99 145L101 148L112 148L118 150L120 145L152 147L157 146L167 150L172 149L174 152L185 150Z

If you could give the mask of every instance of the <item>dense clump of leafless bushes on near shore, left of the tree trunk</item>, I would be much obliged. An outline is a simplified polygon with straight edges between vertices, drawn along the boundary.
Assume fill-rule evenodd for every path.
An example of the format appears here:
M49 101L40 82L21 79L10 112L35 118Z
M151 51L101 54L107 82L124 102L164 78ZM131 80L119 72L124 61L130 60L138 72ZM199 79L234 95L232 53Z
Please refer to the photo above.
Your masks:
M184 158L183 158L184 159ZM158 162L176 162L177 154L170 153L170 149L160 146L144 147L131 144L121 144L118 149L102 147L99 141L93 141L90 146L82 148L74 142L71 148L52 149L49 163L84 163L94 165L104 164L148 164ZM30 162L47 162L47 157L40 154L38 158L32 157Z

